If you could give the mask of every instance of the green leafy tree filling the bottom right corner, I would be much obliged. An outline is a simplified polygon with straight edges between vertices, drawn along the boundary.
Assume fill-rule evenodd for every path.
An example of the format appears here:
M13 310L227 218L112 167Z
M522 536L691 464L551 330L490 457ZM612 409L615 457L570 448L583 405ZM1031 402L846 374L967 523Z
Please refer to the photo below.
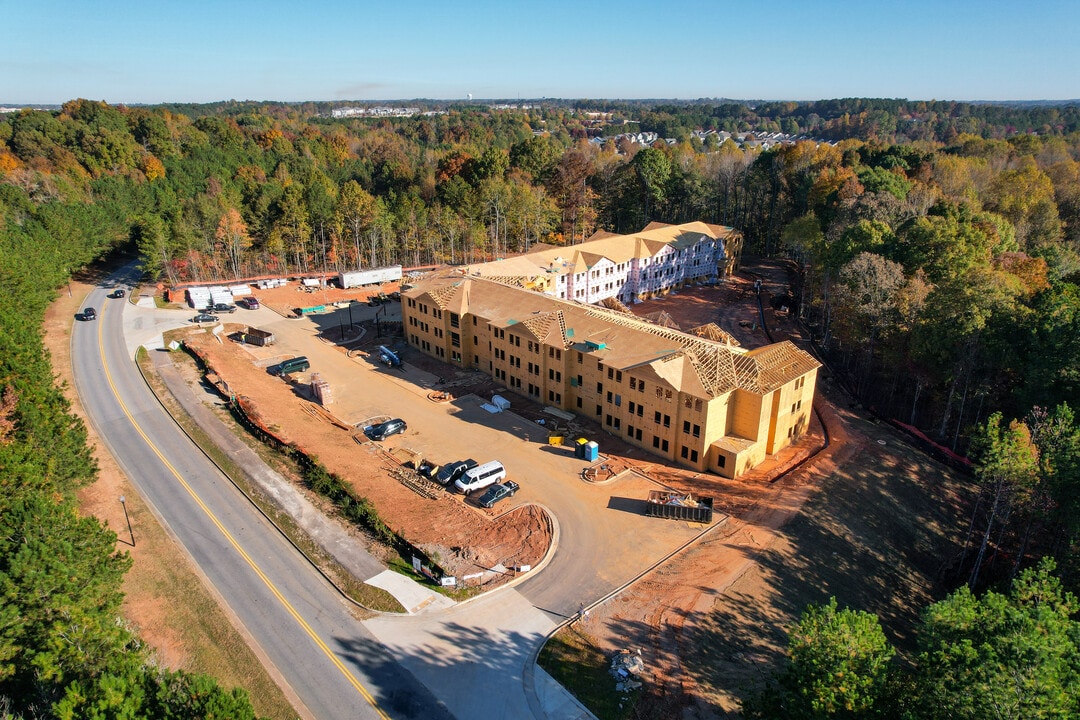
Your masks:
M1008 596L961 587L923 615L918 711L926 720L1080 714L1080 604L1051 573L1025 570Z

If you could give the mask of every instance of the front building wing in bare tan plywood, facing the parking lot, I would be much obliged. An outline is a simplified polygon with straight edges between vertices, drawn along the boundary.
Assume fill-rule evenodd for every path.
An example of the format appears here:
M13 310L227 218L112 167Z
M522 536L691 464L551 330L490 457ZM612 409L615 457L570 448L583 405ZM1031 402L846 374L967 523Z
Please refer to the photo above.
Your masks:
M410 345L589 417L674 463L735 477L806 432L820 364L791 342L744 350L473 275L402 293Z

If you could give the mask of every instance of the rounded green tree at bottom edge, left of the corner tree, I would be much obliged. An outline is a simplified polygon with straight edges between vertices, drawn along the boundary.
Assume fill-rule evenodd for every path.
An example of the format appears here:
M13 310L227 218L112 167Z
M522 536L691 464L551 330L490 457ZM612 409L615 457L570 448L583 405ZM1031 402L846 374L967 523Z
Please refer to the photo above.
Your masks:
M788 633L787 667L777 684L743 705L747 718L874 718L887 711L895 650L872 613L809 606Z

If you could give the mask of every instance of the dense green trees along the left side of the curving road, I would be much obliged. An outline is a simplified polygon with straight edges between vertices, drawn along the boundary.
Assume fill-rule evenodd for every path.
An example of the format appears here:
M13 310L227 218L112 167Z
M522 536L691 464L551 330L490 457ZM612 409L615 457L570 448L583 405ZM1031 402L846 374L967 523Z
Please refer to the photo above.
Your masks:
M122 622L131 559L79 515L97 467L42 322L70 273L126 237L126 208L89 202L87 177L35 177L0 182L0 717L254 718L245 691L159 667Z

